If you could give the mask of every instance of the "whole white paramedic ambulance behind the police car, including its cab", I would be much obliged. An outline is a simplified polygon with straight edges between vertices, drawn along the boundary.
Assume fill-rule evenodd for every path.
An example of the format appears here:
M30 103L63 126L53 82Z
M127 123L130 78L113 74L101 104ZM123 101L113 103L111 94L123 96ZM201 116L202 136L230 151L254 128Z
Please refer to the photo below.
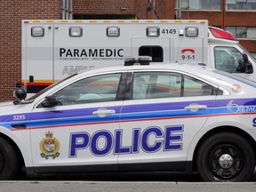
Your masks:
M205 63L256 81L253 57L207 20L22 20L21 84L28 93L79 70L141 55L154 62Z

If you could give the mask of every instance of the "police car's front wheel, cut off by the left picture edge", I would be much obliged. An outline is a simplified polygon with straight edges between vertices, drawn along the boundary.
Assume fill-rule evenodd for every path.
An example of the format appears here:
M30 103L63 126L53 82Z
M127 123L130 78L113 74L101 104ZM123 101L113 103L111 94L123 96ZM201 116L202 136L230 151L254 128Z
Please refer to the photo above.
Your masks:
M14 180L19 173L19 156L4 138L0 138L0 180Z

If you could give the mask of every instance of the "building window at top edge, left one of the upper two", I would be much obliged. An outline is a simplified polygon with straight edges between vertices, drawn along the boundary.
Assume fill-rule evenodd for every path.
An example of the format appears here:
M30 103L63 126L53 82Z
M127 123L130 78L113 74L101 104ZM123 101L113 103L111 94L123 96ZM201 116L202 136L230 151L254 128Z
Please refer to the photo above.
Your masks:
M220 10L221 0L181 0L182 9Z

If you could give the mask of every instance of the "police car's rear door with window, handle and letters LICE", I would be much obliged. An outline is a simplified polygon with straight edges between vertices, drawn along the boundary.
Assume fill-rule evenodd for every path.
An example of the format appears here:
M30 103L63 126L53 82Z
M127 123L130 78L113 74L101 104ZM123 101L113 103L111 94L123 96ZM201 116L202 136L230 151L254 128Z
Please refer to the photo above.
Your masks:
M177 72L130 76L132 88L120 118L123 138L116 142L120 169L185 168L189 144L211 114L218 88Z

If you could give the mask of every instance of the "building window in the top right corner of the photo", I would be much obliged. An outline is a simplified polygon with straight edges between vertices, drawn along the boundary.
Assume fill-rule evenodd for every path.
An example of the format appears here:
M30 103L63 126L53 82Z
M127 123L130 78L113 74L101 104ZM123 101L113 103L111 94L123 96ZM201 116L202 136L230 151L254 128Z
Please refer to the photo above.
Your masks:
M226 0L226 10L256 10L256 0Z

